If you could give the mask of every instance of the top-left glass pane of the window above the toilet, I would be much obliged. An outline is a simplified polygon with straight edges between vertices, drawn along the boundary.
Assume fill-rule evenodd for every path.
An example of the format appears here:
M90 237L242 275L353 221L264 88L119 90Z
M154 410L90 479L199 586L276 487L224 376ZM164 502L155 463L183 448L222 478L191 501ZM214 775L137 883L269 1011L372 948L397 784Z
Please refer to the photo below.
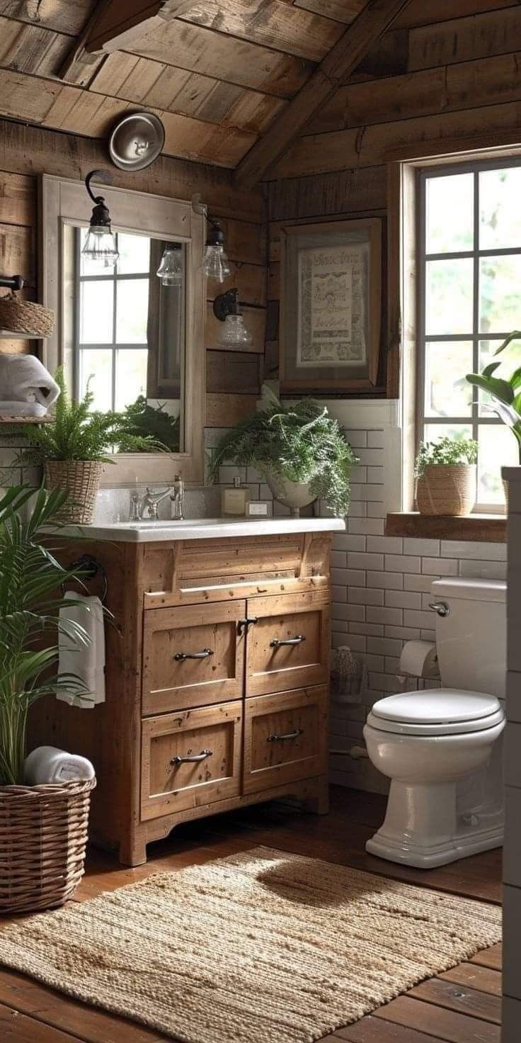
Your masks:
M427 253L452 253L473 248L474 177L450 174L426 181Z

